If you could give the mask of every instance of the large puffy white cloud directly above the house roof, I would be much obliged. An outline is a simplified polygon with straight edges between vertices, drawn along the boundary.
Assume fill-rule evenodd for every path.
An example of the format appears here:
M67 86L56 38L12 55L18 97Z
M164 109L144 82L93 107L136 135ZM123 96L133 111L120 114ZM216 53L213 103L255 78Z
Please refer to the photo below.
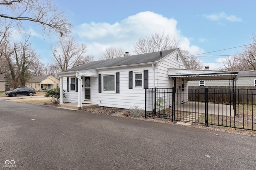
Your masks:
M94 55L98 60L98 54L106 47L123 47L125 51L134 55L133 45L140 37L148 33L163 31L180 40L180 47L190 53L203 53L204 50L195 45L190 45L187 37L177 29L177 21L174 18L166 18L154 12L140 12L129 16L120 22L110 23L83 23L74 30L78 41L88 46L88 55Z

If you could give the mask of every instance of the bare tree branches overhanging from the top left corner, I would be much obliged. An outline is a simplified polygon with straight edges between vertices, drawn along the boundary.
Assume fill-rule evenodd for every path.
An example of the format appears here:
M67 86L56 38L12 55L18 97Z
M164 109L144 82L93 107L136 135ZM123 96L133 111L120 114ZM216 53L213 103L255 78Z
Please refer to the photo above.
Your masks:
M18 29L22 30L24 28L22 21L32 21L40 24L46 35L50 35L51 30L55 30L61 36L70 33L72 24L65 17L64 12L59 11L52 4L52 0L2 0L0 6L2 24L7 20L15 21Z

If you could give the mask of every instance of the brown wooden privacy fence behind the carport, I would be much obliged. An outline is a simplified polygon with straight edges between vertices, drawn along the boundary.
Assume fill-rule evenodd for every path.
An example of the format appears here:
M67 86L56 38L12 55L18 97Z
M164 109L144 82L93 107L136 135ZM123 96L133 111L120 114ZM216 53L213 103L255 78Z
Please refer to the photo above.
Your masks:
M227 86L189 86L188 100L189 101L204 101L204 89L208 88L208 102L219 104L255 104L256 103L256 87L236 87L230 88Z

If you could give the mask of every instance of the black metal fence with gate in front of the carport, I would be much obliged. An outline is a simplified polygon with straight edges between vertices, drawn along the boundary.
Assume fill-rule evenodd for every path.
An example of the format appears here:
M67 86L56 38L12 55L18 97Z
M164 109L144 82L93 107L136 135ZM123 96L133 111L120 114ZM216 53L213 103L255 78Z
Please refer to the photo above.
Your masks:
M145 117L256 130L256 89L147 88Z

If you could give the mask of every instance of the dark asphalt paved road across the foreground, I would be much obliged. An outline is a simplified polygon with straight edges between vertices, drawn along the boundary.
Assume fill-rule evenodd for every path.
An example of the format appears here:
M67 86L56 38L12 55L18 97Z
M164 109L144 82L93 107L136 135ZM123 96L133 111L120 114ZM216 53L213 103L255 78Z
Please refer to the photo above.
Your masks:
M255 137L214 133L1 100L0 169L256 169Z

